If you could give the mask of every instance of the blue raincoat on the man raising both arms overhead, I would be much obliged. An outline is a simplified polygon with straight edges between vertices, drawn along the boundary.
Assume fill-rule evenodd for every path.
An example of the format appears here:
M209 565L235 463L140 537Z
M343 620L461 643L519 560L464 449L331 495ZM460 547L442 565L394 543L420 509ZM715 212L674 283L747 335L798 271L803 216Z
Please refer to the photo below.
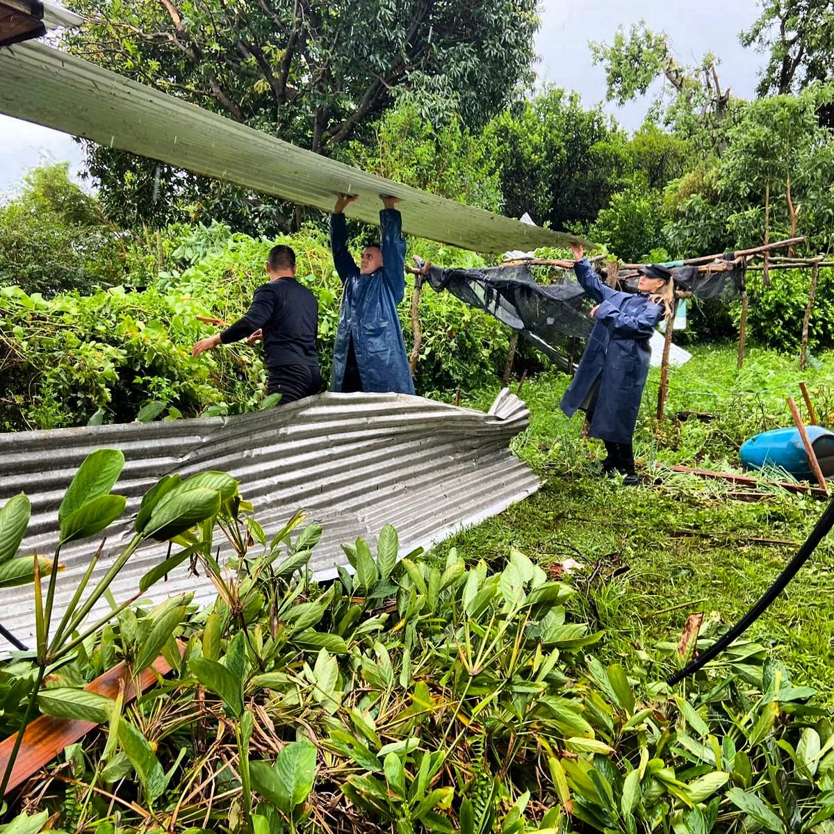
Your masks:
M365 391L414 394L397 316L397 304L405 294L402 217L395 208L384 208L379 212L379 224L383 265L376 272L363 275L348 252L344 214L330 215L330 249L336 272L344 284L330 389L342 389L348 345L353 337L356 364Z

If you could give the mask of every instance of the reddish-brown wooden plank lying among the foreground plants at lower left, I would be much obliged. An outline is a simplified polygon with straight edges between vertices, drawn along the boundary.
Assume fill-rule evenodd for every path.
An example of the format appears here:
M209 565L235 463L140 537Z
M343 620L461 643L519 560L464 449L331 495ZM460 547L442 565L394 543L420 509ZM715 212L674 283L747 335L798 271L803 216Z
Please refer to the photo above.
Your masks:
M178 647L180 654L182 654L185 651L184 646L178 644ZM153 686L158 675L167 675L169 671L171 671L171 666L168 665L168 661L159 656L154 661L153 666L138 676L139 692L142 693L149 686ZM136 697L136 691L133 688L133 679L124 662L119 663L118 666L113 666L113 669L98 676L84 689L115 700L120 686L124 686L124 702L127 704L129 701L133 701ZM76 721L51 716L36 718L23 733L23 744L14 761L12 776L6 786L6 794L8 795L16 787L22 785L30 776L37 773L43 766L48 765L65 747L74 744L97 726L92 721ZM8 767L15 736L17 736L17 733L0 741L0 774L5 773Z

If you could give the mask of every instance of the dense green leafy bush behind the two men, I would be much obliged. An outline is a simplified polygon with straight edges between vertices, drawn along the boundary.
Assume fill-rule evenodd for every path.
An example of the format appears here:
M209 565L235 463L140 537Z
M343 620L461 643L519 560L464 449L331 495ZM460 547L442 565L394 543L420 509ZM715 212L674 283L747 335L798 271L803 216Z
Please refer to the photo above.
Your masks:
M44 299L19 288L0 289L0 367L6 380L0 429L54 429L93 417L129 422L152 403L163 419L257 406L266 384L259 348L239 343L192 359L191 347L216 332L197 316L232 322L245 312L264 282L274 241L232 234L218 224L177 231L162 240L172 268L142 291L118 286ZM299 280L319 300L319 360L329 379L341 284L328 241L318 229L307 229L278 242L294 247ZM419 242L415 248L438 263L479 262L436 244ZM407 292L399 314L408 349L410 304ZM430 289L422 294L420 319L420 393L470 390L500 374L509 331L495 319Z

